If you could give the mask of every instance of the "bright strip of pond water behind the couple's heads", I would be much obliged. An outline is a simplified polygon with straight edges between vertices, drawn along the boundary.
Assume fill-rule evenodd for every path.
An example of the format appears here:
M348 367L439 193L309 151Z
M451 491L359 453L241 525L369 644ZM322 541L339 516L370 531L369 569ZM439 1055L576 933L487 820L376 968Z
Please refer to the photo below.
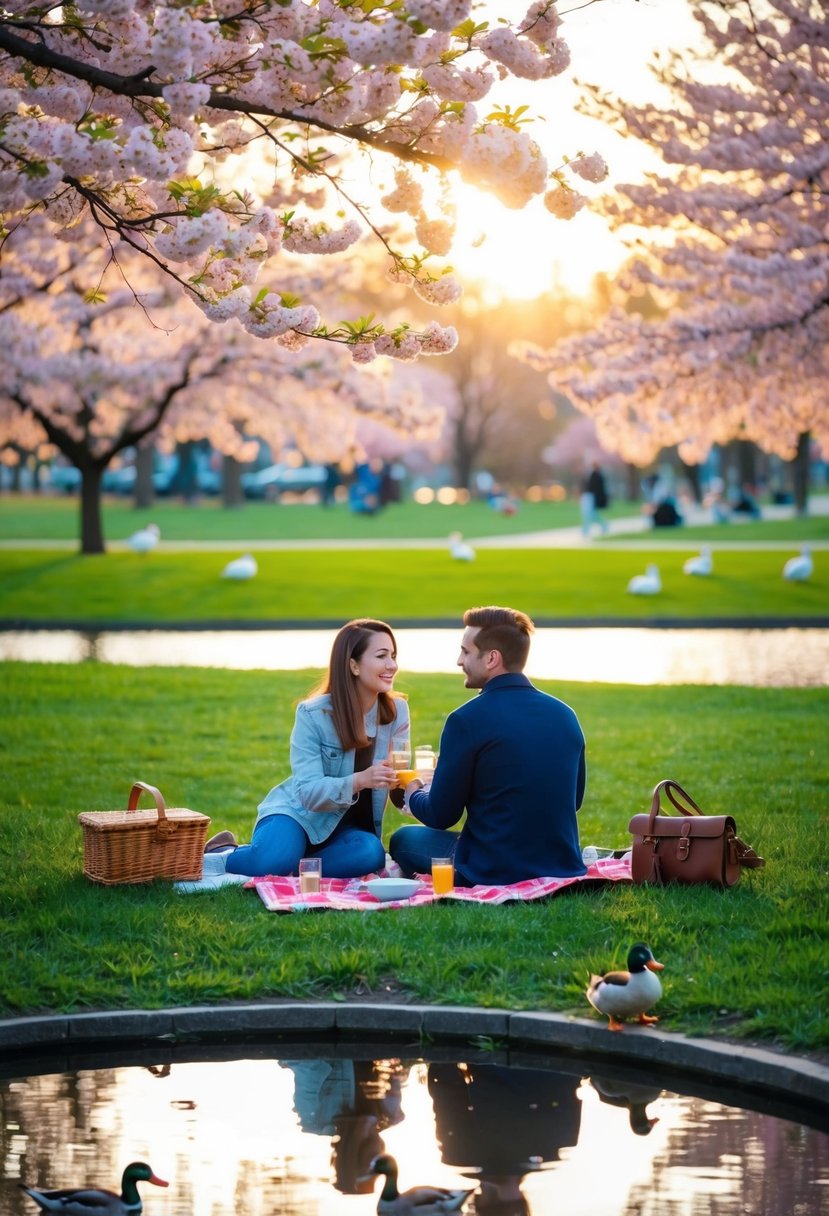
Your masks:
M327 663L335 630L0 632L0 660L297 671ZM461 631L395 630L402 671L455 671ZM829 685L825 629L538 629L535 680L632 685Z

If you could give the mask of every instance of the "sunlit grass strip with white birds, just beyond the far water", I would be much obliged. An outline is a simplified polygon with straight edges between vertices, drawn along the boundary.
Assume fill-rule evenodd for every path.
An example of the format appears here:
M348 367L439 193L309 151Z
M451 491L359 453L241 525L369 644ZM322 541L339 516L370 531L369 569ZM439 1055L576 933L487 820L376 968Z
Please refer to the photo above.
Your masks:
M255 550L254 550L255 552ZM0 619L204 621L379 617L459 620L479 603L512 603L534 619L649 620L829 615L829 554L807 582L782 578L774 551L717 553L715 574L682 573L682 551L479 550L469 563L442 550L256 552L248 582L220 578L227 553L0 551ZM627 581L656 562L662 593L627 595Z

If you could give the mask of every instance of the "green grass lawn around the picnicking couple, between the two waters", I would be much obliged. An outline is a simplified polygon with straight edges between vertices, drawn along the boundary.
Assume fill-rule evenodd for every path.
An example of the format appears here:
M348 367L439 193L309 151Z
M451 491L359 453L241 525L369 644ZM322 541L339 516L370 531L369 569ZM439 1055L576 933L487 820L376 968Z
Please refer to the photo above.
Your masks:
M582 841L627 844L631 815L671 776L706 811L733 814L767 858L731 891L616 886L514 906L277 916L238 888L180 896L83 878L77 814L124 807L135 779L247 839L256 803L287 775L294 703L314 676L5 664L0 1015L371 997L389 983L430 1003L590 1017L588 974L624 964L644 939L665 963L664 1029L825 1047L827 689L545 685L588 741ZM466 696L459 680L400 686L414 741L436 745ZM397 822L391 811L388 831Z

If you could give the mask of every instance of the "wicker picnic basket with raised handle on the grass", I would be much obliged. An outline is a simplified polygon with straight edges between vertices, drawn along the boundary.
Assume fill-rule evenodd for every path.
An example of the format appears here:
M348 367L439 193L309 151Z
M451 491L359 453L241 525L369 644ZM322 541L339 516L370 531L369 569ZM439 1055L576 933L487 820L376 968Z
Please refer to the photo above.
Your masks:
M146 790L156 810L140 811ZM154 786L136 781L125 811L84 811L84 874L94 883L150 883L201 878L210 820L184 807L167 809Z

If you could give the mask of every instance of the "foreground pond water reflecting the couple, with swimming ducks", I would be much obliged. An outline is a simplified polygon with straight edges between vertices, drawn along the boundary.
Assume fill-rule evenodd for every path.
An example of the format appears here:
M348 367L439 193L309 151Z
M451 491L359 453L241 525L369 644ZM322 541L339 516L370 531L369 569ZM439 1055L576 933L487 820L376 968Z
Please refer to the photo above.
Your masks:
M170 1183L141 1187L145 1216L370 1216L384 1152L401 1189L475 1188L468 1216L829 1214L819 1122L573 1060L323 1048L0 1080L0 1210L30 1216L21 1181L118 1189L143 1160Z

